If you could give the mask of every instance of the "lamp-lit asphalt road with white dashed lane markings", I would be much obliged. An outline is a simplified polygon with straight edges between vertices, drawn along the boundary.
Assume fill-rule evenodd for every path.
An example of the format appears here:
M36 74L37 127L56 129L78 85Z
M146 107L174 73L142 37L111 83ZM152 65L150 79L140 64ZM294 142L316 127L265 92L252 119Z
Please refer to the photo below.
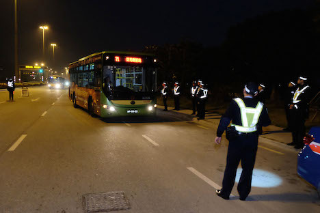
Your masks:
M0 212L83 212L82 195L123 191L122 212L319 212L317 192L296 175L297 152L260 142L252 193L225 201L228 141L216 126L159 111L101 119L75 109L67 90L0 91ZM240 167L239 167L240 168ZM241 168L240 168L241 169ZM116 211L118 212L118 211Z

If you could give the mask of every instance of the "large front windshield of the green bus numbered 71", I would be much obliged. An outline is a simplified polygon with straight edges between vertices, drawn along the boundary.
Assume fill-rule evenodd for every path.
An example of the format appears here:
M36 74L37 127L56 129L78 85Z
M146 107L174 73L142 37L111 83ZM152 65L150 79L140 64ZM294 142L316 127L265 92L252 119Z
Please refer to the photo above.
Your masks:
M104 66L103 91L111 100L151 99L155 69L141 66Z

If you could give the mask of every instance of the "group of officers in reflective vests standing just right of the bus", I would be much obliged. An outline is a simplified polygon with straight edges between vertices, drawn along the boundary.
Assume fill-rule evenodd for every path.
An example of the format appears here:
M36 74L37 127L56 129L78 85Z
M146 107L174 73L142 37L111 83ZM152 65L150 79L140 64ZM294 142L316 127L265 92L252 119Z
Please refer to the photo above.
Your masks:
M169 96L169 88L167 83L162 83L161 95L163 100L163 105L165 109L163 111L168 111L167 100ZM174 88L172 89L173 97L174 97L174 110L180 110L180 97L181 97L181 87L179 83L174 82ZM198 116L198 119L204 119L204 115L206 114L206 99L208 96L208 89L204 88L204 83L201 80L193 81L190 89L191 101L192 101L192 115Z

